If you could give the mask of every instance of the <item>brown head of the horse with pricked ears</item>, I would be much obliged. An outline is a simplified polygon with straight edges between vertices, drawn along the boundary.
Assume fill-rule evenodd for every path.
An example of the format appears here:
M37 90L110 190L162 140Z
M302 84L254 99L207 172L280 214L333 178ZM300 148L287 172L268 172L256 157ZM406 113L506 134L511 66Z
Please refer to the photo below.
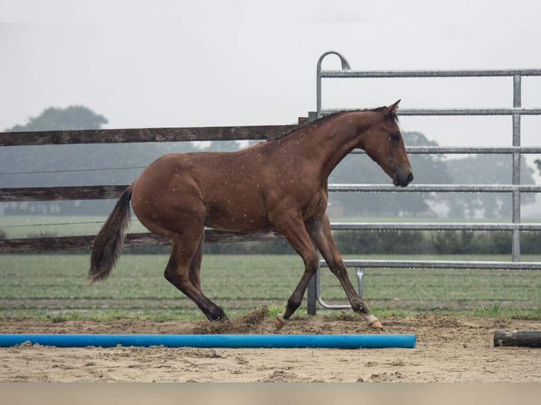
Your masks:
M399 102L373 111L376 119L364 128L360 147L393 179L395 186L405 187L413 174L396 118Z

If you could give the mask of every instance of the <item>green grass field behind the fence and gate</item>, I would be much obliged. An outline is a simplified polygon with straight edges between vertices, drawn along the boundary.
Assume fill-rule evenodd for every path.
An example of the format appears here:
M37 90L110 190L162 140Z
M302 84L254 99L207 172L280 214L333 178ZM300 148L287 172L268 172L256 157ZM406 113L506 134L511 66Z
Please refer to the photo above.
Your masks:
M502 259L509 260L475 258ZM204 318L164 279L167 255L123 255L109 279L95 286L86 284L88 260L88 254L0 255L0 317ZM301 277L302 260L295 255L206 255L202 273L203 291L234 317L263 305L282 308ZM353 277L351 270L357 285ZM346 303L326 269L321 286L326 302ZM367 269L364 300L376 315L438 311L541 318L541 272ZM318 312L336 311L319 307ZM297 314L306 314L304 305Z

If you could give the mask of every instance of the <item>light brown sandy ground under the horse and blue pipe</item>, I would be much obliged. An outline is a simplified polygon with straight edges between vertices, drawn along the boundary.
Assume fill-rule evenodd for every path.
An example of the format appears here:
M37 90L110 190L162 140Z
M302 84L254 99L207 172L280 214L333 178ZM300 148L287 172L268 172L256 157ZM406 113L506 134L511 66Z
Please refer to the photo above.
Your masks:
M219 322L1 321L2 333L275 333L261 311ZM438 315L382 320L415 349L0 348L0 382L541 382L541 349L494 347L494 330L541 320ZM355 315L293 318L280 333L374 333Z

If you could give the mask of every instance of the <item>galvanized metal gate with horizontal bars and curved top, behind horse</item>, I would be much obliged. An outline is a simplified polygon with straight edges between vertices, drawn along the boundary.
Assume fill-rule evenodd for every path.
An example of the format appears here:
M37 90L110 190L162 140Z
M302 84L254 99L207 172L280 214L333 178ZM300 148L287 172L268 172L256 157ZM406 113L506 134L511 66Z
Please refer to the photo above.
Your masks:
M339 71L321 70L321 62L329 54L340 58L342 69ZM513 177L511 184L505 185L460 185L460 184L410 184L407 188L395 188L382 184L330 184L330 192L388 192L388 193L511 193L512 221L511 223L332 223L333 230L466 230L466 231L512 231L511 261L450 261L450 260L345 260L346 267L354 267L362 296L364 269L367 267L402 267L402 268L468 268L468 269L507 269L507 270L541 270L541 262L521 262L521 231L540 231L541 224L521 222L521 194L540 193L540 186L521 184L521 156L524 154L541 153L541 146L521 146L521 116L541 115L541 108L522 107L522 78L524 76L540 76L541 69L518 70L468 70L468 71L352 71L350 64L338 52L326 52L321 55L317 64L317 111L309 113L309 119L314 120L332 109L321 108L321 80L334 78L490 78L509 77L513 80L513 107L487 109L399 109L401 116L511 116L513 120L511 147L407 147L409 154L506 154L513 156ZM356 150L354 153L363 153ZM326 262L320 260L320 268L326 267ZM316 314L316 304L323 308L345 309L349 305L330 305L323 301L320 289L320 270L316 273L308 288L307 312Z

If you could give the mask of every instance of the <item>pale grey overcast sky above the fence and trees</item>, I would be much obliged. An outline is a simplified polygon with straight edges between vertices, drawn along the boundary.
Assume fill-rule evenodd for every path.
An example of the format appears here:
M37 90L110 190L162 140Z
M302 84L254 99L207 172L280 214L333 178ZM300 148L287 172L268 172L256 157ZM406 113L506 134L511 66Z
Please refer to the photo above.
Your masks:
M354 70L541 68L538 1L0 0L0 131L81 104L107 128L283 124L328 50ZM323 68L338 69L335 56ZM511 107L512 80L323 82L323 107ZM523 107L541 80L523 79ZM511 145L511 118L403 117L440 145ZM523 118L539 145L540 119Z

